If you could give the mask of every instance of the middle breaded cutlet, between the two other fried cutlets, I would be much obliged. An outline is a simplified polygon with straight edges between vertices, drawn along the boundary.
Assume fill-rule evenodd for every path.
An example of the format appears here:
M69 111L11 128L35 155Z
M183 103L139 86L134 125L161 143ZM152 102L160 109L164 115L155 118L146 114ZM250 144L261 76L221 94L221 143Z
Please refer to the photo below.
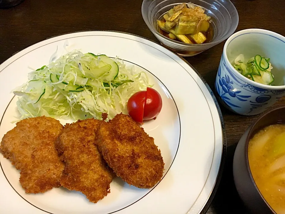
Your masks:
M85 119L66 124L56 142L58 154L65 163L61 185L82 192L93 203L110 192L113 180L111 169L94 144L101 123L96 119Z

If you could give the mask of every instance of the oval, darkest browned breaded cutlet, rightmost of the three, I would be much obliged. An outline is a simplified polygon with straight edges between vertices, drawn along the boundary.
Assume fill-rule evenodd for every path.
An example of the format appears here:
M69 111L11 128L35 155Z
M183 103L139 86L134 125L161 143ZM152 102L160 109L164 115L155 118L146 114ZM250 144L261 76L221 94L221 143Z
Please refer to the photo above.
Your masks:
M95 143L115 174L128 184L151 188L162 179L164 162L160 150L128 115L117 114L102 123Z

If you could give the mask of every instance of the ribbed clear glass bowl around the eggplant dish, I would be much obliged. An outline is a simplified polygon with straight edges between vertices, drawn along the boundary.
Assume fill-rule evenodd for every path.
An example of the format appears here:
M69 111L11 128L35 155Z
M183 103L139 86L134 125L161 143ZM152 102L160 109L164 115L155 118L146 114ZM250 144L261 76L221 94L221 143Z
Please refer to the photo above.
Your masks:
M195 5L205 9L205 13L211 16L213 27L213 39L204 44L186 44L171 40L158 32L156 20L161 18L174 6L189 0L144 0L142 15L148 28L166 48L181 56L194 56L226 40L235 32L238 26L238 11L230 0L191 0Z

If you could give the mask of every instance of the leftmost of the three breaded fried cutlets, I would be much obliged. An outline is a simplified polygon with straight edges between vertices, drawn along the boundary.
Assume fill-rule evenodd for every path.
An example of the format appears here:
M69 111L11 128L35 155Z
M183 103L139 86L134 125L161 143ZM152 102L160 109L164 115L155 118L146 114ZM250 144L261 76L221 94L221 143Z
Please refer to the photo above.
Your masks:
M43 193L59 187L63 163L54 143L63 126L50 117L23 119L1 141L0 152L20 170L26 193Z

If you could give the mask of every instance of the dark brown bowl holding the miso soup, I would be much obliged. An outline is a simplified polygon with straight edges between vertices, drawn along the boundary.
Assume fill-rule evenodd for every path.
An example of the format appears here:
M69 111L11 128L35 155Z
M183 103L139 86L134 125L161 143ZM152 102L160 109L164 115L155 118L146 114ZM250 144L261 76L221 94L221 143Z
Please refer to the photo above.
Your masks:
M256 214L276 214L270 205L265 201L256 183L253 180L248 163L248 141L262 128L266 126L285 123L285 106L275 108L261 115L253 122L238 142L233 161L233 174L235 186L240 198L246 207Z

